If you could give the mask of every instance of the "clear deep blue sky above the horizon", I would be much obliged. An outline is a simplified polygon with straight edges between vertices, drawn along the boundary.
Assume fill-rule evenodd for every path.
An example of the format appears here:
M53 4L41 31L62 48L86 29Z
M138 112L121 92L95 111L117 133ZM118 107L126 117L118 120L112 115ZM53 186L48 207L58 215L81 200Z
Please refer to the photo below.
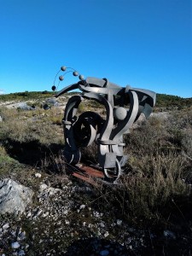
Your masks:
M84 77L192 97L191 0L0 0L0 93ZM59 90L78 81L71 73Z

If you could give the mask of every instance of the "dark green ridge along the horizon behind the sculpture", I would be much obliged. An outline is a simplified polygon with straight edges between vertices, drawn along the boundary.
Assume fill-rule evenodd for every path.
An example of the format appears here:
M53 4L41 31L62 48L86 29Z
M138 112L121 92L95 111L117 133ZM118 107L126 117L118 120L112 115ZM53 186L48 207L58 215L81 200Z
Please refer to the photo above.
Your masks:
M71 92L68 94L74 94ZM6 95L0 95L0 101L28 101L32 99L44 99L54 96L52 91L24 91L15 92ZM179 96L171 96L166 94L157 94L156 108L190 108L192 106L192 97L182 98Z

